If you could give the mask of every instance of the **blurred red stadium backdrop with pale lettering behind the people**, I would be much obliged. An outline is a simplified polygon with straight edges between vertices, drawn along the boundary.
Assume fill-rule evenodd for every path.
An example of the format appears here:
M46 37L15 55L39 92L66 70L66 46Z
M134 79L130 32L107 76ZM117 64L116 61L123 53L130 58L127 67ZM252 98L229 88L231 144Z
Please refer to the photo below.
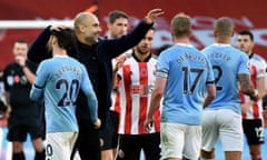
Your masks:
M265 17L266 1L257 0L1 0L0 1L0 70L13 60L12 44L18 39L29 43L39 32L49 24L62 23L72 27L72 19L78 12L88 11L98 16L102 37L107 34L106 22L108 13L121 10L130 16L129 30L131 30L152 8L161 8L165 14L156 23L156 33L152 50L165 44L171 44L169 32L170 20L178 12L185 12L192 19L191 43L198 49L214 42L214 21L222 16L229 17L236 24L236 31L250 30L255 36L254 52L267 60L267 26ZM233 44L236 38L234 36ZM267 78L266 78L267 79ZM0 83L0 94L3 86ZM1 116L1 113L0 113ZM266 121L267 127L267 121ZM9 160L10 143L6 140L7 120L0 120L0 160ZM265 130L266 134L267 130ZM266 134L267 137L267 134ZM266 139L265 137L265 139ZM217 159L222 160L224 154L218 142ZM267 144L263 146L264 160L267 160ZM26 143L28 159L33 156L29 140ZM248 147L244 147L243 159L249 159Z

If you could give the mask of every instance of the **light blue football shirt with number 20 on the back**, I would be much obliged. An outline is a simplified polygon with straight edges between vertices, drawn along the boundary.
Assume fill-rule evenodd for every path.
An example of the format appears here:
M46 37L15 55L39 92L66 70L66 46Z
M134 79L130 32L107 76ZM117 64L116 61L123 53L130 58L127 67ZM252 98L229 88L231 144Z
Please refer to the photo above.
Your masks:
M90 117L97 120L97 98L86 68L70 57L56 56L40 63L30 97L44 96L47 132L78 132L76 100L79 90L87 96Z

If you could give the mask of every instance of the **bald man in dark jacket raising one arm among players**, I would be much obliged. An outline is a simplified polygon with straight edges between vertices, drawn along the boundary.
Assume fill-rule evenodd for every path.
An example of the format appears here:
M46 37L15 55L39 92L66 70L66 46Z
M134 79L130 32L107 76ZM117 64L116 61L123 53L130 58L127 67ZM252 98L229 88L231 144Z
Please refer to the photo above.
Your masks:
M100 40L101 32L98 18L88 12L78 13L75 19L75 32L78 51L70 51L82 62L89 73L93 90L98 99L98 114L102 121L102 128L107 121L107 112L111 106L112 66L111 60L128 49L136 46L152 27L155 19L161 16L161 9L150 10L146 18L128 34L113 40ZM47 42L51 30L60 27L48 27L31 44L28 58L31 61L40 62L51 57L48 52ZM93 128L89 120L85 98L80 93L77 101L77 117L79 123L79 137L77 148L82 160L100 160L99 130Z

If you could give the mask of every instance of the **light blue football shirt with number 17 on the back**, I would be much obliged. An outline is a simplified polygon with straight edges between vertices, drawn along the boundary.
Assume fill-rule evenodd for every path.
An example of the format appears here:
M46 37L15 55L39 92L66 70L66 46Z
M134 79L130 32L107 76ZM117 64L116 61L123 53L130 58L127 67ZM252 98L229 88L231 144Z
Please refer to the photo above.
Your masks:
M167 78L161 122L200 124L206 87L214 83L208 59L192 46L175 44L160 53L157 78Z

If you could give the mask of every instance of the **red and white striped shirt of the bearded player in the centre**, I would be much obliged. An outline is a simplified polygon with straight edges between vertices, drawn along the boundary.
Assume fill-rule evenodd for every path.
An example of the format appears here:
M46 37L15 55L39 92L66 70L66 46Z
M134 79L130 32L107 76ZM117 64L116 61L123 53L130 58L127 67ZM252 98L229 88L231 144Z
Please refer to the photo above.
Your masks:
M152 57L147 62L138 62L129 57L118 70L118 92L115 98L115 111L119 112L120 134L148 133L144 123L147 118L151 92L155 86L157 60ZM151 132L159 132L160 109L155 113Z

